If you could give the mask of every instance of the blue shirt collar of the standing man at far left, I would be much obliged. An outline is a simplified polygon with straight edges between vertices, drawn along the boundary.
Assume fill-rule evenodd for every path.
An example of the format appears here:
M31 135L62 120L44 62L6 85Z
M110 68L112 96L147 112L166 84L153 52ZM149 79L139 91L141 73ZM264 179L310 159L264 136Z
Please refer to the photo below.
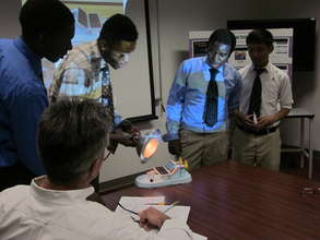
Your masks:
M42 58L39 56L35 55L29 49L29 47L25 44L25 41L22 39L22 37L14 39L13 44L16 47L16 49L29 60L29 63L34 70L35 74L38 76L42 76L43 75Z

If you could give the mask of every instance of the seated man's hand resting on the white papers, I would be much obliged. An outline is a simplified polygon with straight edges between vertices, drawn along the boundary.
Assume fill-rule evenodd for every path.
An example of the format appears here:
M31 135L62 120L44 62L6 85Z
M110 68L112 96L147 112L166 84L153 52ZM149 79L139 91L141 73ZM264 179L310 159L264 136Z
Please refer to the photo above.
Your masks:
M159 212L154 207L149 207L139 213L140 226L145 230L153 228L161 228L166 219L169 219L167 215Z

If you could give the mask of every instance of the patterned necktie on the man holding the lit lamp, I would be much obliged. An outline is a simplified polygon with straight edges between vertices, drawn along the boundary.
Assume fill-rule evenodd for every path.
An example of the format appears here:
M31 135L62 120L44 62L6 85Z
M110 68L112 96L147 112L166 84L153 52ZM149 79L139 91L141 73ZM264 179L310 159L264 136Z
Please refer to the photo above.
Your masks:
M110 81L110 72L108 65L103 68L102 70L102 104L106 107L108 113L112 118L112 122L115 123L115 106L114 106L114 97L112 97L112 86Z

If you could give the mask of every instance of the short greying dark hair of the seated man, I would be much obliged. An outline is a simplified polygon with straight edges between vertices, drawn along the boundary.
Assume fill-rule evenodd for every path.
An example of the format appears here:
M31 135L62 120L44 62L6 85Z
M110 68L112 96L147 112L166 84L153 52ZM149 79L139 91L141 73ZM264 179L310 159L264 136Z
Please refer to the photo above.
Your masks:
M68 184L88 171L107 144L110 116L93 100L62 97L39 122L38 151L49 180Z

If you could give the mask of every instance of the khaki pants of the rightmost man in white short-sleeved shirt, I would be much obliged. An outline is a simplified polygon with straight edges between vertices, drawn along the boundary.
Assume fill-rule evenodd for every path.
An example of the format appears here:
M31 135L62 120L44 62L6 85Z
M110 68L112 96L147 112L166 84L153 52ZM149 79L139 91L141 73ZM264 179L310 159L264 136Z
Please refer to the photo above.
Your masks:
M265 135L254 135L236 128L233 133L235 160L278 171L281 139L278 129Z

